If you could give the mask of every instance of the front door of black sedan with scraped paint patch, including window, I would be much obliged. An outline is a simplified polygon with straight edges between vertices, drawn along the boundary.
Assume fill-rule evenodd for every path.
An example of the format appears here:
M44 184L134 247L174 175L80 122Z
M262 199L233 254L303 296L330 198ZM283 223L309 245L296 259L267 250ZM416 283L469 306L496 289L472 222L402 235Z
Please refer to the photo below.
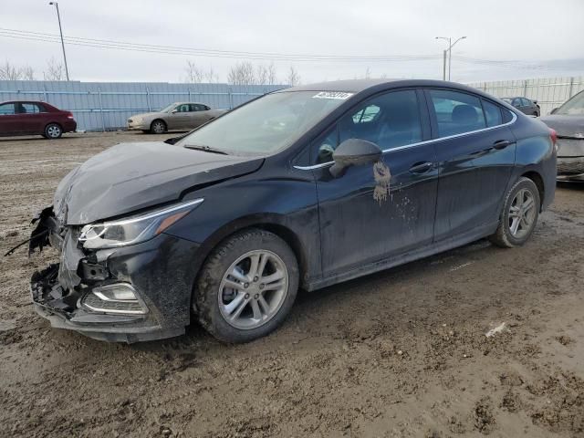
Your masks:
M343 275L433 240L438 171L422 93L392 91L350 110L312 146L323 276ZM378 144L380 162L333 178L332 151L359 138Z

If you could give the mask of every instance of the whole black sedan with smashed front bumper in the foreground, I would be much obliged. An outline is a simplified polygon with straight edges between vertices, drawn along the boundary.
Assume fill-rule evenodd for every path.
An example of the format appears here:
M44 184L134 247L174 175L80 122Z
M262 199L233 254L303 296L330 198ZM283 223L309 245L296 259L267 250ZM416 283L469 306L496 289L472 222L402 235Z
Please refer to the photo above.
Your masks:
M350 80L255 99L174 144L120 144L70 172L30 250L59 328L135 342L198 320L244 342L308 291L489 237L523 245L554 199L545 124L476 89Z

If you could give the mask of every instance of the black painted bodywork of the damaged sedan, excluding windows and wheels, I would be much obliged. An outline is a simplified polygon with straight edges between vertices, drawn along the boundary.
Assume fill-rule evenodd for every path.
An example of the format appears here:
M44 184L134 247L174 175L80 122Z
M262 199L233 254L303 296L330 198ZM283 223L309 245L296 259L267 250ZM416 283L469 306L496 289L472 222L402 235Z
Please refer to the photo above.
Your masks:
M381 202L374 197L379 182L372 166L350 167L342 177L333 178L328 165L311 165L307 153L311 141L341 115L378 93L412 88L419 89L422 102L426 99L422 89L472 93L510 110L516 120L432 140L435 120L424 109L422 142L382 155L391 183L387 199ZM207 255L242 228L264 228L284 238L297 255L301 287L314 290L492 234L503 196L523 174L532 175L540 187L542 209L553 200L555 151L547 127L481 91L431 80L339 81L297 89L355 94L294 144L271 156L225 156L158 143L130 144L103 152L71 172L59 184L55 203L57 218L68 224L64 228L70 233L78 232L81 224L161 203L194 198L204 198L204 202L148 242L86 252L90 263L104 266L110 275L107 281L135 285L151 310L147 315L130 322L105 315L88 317L84 311L68 309L60 312L65 322L57 323L46 291L42 299L36 292L37 310L53 315L54 324L99 339L164 338L182 333L189 324L193 283ZM495 147L498 141L507 144L499 149ZM149 153L141 156L140 148ZM108 164L110 160L114 166ZM412 172L426 162L430 166L423 172ZM98 183L100 179L103 182ZM60 204L62 198L67 199L67 208ZM77 256L76 260L83 259ZM33 291L43 287L37 276L36 280ZM81 280L83 287L99 283ZM78 322L79 318L85 322ZM115 322L116 318L120 320Z

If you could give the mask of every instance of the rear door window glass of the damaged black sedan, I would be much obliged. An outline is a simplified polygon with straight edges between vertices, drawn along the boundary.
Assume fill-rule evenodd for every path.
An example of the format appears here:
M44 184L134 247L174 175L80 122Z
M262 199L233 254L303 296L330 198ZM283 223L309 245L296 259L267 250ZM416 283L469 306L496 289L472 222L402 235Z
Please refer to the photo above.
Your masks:
M481 100L473 95L447 89L431 89L438 136L462 134L486 128Z

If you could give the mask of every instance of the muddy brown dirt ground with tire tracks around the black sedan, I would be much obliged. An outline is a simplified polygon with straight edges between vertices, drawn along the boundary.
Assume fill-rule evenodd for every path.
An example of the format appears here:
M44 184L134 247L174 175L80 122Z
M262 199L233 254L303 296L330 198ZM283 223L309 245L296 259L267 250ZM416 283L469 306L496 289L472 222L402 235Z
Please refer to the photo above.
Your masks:
M69 169L138 139L157 140L0 139L0 250ZM246 345L195 325L130 346L50 328L28 278L55 258L0 257L0 436L584 436L583 185L558 186L524 247L481 241L300 293Z

